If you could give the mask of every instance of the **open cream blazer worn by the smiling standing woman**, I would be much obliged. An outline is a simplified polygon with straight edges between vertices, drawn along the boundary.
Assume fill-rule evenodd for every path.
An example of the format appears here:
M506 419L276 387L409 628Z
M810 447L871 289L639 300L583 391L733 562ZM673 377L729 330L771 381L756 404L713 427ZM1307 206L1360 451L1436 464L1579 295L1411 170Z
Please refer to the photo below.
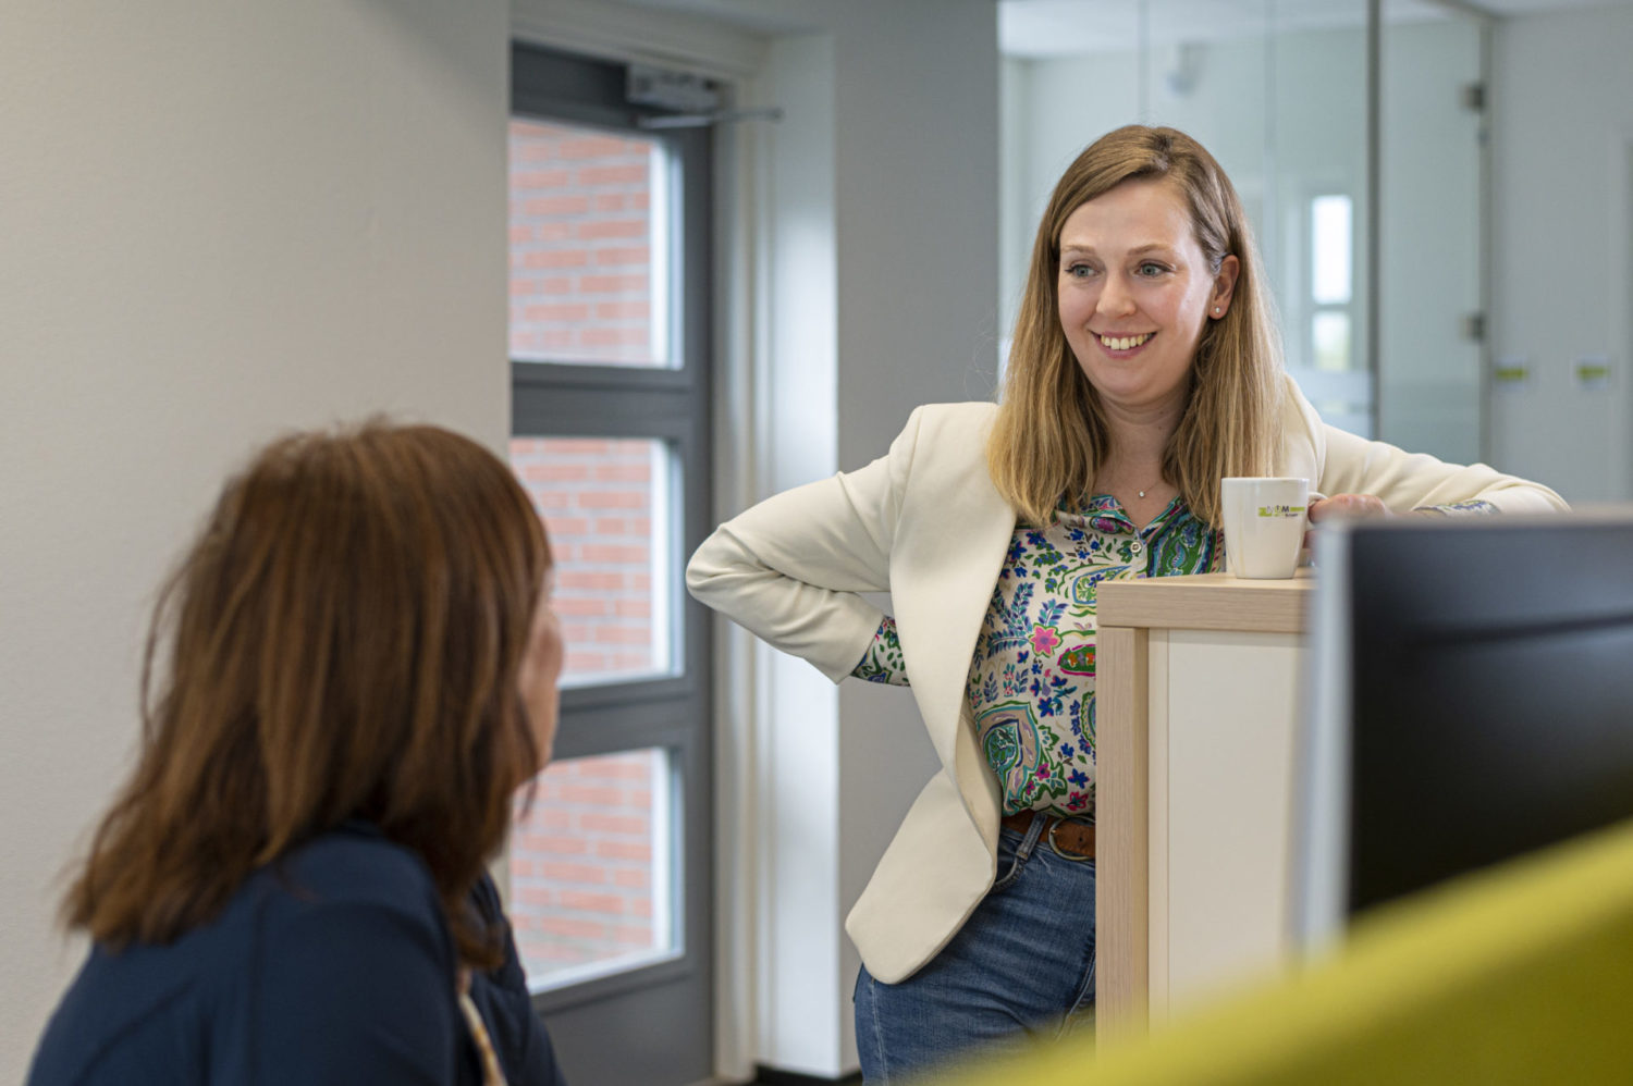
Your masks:
M1483 498L1504 511L1563 510L1548 490L1481 464L1457 467L1364 441L1285 397L1277 474L1328 495L1372 493L1396 511ZM888 591L901 655L941 771L919 792L846 918L867 970L911 977L993 883L998 779L965 697L1016 511L986 474L996 405L921 407L867 467L787 490L732 518L686 568L692 596L838 683L861 661Z

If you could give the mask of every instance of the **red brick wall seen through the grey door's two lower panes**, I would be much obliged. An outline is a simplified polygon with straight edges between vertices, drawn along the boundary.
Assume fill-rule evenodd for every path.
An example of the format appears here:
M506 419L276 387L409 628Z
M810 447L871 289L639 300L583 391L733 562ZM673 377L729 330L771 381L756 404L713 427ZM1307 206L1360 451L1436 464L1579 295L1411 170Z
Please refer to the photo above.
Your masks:
M653 632L653 441L514 438L511 465L544 518L563 681L668 666ZM552 764L511 836L511 921L529 977L655 947L658 753ZM666 895L668 888L660 887ZM665 898L658 898L665 900Z

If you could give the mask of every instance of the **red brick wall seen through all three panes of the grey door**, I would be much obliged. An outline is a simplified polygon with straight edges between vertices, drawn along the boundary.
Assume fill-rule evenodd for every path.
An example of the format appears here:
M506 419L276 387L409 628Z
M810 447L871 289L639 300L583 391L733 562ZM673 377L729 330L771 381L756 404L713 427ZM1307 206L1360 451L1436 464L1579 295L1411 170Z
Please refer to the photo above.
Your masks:
M653 343L653 292L666 289L653 279L663 261L661 251L653 260L653 147L511 122L511 358L666 364L666 346ZM655 441L576 434L511 441L511 464L550 534L567 684L670 666L653 608L653 529L668 537L655 524L661 452ZM653 848L668 839L655 795L666 779L661 751L562 761L541 774L509 849L511 919L534 980L666 949L653 946L666 939L655 903L670 900L668 887L653 887Z

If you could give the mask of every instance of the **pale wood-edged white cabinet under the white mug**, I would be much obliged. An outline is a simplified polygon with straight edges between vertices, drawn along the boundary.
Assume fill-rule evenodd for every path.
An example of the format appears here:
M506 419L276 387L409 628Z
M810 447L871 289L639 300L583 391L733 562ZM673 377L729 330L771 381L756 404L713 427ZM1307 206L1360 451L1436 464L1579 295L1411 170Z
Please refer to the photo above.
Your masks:
M1099 586L1096 1019L1141 1030L1285 941L1308 570Z

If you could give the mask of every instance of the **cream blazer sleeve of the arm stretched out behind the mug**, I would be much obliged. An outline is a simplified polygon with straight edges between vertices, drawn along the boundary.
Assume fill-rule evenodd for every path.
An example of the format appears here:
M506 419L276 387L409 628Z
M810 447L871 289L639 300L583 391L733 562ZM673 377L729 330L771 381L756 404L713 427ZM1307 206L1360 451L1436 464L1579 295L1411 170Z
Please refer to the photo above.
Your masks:
M1311 478L1324 495L1370 493L1393 513L1462 501L1489 501L1502 513L1551 513L1569 508L1542 483L1504 475L1484 464L1447 464L1426 452L1406 452L1383 441L1367 441L1328 426L1315 408L1290 392L1293 430L1315 446L1318 474Z

